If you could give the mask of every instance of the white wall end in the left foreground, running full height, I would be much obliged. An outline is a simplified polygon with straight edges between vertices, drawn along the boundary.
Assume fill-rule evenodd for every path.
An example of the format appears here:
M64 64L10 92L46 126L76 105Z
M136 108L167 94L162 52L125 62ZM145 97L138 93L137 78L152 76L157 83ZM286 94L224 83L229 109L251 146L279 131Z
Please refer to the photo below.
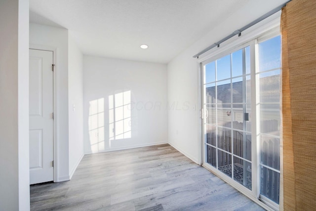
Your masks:
M0 1L0 210L30 210L29 2Z

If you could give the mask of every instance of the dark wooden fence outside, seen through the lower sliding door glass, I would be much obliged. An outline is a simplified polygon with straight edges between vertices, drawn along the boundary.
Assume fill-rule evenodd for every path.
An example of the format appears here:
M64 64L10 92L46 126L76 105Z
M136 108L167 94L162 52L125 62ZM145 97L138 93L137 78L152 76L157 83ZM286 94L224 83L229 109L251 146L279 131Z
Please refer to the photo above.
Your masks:
M264 132L272 132L276 128L276 120L269 120L261 122L262 128L265 128ZM263 132L263 131L262 131ZM244 135L239 131L227 129L223 130L220 135L217 136L218 147L232 152L233 154L245 159L251 160L251 137L248 135L244 139ZM206 142L212 145L216 145L216 133L211 131L206 134ZM234 144L232 147L231 144ZM261 161L264 165L272 167L274 169L280 169L280 150L279 150L279 139L271 138L267 136L261 137ZM244 160L234 157L232 161L232 156L221 150L218 150L218 167L229 166L231 168L232 163L235 165L243 166L244 170L246 168ZM216 148L208 146L206 149L206 162L216 167ZM245 171L244 171L245 173ZM231 174L231 173L230 173ZM228 174L229 175L229 174ZM231 176L231 175L230 175ZM280 176L276 171L270 170L265 167L261 167L260 171L260 190L261 194L268 197L272 201L279 202L279 181Z

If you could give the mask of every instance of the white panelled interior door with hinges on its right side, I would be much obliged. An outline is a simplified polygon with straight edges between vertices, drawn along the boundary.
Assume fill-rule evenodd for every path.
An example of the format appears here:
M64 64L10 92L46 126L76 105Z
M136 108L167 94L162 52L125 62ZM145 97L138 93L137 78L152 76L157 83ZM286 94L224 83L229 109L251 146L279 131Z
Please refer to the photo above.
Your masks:
M54 180L53 52L30 49L30 184Z

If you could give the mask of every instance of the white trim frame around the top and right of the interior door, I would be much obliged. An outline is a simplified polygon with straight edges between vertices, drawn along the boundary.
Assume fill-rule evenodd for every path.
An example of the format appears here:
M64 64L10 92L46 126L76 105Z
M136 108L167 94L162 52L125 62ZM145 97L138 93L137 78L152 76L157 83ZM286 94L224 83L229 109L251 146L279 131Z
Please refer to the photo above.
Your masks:
M57 87L56 87L56 70L57 70L57 63L56 63L56 52L57 49L51 46L44 46L44 45L35 45L30 44L29 49L34 50L43 50L43 51L52 51L53 52L53 112L54 112L54 120L53 120L53 156L54 156L54 182L57 182L57 173L58 173L58 161L57 161Z

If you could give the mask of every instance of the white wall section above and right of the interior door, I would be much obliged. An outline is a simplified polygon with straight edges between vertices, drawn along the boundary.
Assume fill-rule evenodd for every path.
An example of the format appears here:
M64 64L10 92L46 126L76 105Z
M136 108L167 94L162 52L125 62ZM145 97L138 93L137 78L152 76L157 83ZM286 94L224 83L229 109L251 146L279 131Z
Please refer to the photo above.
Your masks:
M31 23L30 47L34 46L55 49L54 135L58 151L55 180L69 180L68 30Z

